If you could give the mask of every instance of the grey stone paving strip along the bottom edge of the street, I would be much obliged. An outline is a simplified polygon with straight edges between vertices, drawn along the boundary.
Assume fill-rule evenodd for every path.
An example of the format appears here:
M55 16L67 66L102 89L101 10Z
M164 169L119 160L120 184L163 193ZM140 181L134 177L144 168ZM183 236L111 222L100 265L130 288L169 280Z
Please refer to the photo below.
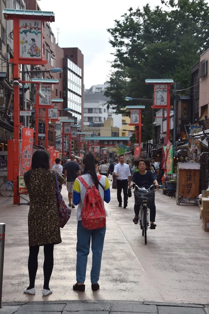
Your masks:
M209 314L209 305L126 301L54 301L5 303L0 314Z

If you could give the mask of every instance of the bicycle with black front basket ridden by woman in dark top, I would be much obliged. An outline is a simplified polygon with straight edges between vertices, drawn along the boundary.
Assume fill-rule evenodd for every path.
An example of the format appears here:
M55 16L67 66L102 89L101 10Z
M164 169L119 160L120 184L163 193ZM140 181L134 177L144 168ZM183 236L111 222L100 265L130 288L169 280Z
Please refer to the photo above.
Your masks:
M140 224L142 230L142 236L144 236L145 244L147 244L147 230L149 227L149 204L154 204L154 185L149 187L147 190L138 187L135 183L133 183L133 188L135 188L133 194L135 198L135 204L141 204L138 222ZM137 188L137 189L136 189Z

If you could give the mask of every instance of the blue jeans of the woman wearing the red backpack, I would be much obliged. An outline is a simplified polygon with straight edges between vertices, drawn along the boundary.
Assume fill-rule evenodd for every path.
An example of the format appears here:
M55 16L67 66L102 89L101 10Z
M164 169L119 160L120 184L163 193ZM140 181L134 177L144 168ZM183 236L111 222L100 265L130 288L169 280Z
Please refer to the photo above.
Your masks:
M82 226L82 221L78 221L77 227L77 263L76 280L82 284L86 279L86 265L90 250L92 251L91 283L97 284L102 262L102 250L104 245L106 227L89 230Z

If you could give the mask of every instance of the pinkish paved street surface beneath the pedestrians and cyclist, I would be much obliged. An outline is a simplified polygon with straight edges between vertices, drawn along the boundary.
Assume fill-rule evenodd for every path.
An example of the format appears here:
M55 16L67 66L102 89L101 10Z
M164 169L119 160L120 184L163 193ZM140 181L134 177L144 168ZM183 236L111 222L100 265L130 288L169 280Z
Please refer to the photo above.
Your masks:
M67 202L65 187L63 196ZM70 221L61 230L62 243L55 246L55 265L50 281L53 294L45 298L41 295L43 249L40 249L39 253L36 295L23 294L23 289L28 286L29 207L14 206L11 204L12 199L1 204L1 222L6 223L3 302L115 300L203 305L209 303L207 280L209 233L201 229L199 208L190 205L177 206L174 198L171 199L162 195L162 191L157 191L157 228L148 230L148 243L145 246L139 225L132 222L134 198L129 199L126 209L118 208L116 190L111 189L111 198L111 202L107 204L107 233L99 281L101 289L94 293L91 291L89 261L85 293L76 293L72 290L72 285L76 281L76 210L72 210ZM62 309L60 307L57 312L60 313L63 309L64 307ZM113 307L112 312L114 311L116 310ZM124 311L120 308L118 311L138 312L127 309ZM157 313L156 311L155 307L153 313ZM184 312L180 312L179 309L177 312L168 311L159 307L158 313ZM187 310L185 313L204 312L199 308L195 312Z

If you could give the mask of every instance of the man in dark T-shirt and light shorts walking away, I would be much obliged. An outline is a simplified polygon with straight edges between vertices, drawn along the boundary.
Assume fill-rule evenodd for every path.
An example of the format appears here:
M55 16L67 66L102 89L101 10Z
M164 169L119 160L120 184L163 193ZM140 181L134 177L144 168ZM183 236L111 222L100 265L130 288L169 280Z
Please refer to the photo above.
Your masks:
M65 164L65 175L64 178L67 178L67 192L68 192L68 199L69 204L68 206L75 208L73 203L73 184L77 178L77 176L81 175L81 168L77 162L75 162L75 155L71 154L71 160ZM72 203L71 203L72 201Z

